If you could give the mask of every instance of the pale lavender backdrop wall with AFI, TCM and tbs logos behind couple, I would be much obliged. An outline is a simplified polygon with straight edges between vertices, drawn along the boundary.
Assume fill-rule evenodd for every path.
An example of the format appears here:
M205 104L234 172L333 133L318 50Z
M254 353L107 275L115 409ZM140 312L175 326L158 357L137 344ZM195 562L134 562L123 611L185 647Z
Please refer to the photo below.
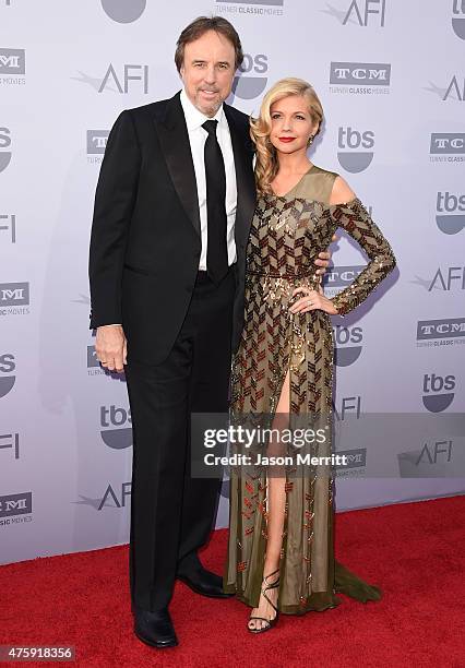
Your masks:
M334 319L336 419L464 410L464 0L0 0L1 562L128 540L126 382L88 330L93 198L112 122L180 88L176 39L201 14L240 33L238 108L257 112L286 75L314 85L326 120L311 159L395 251L375 294ZM327 294L366 260L341 235ZM338 442L337 509L463 493L463 440L441 429Z

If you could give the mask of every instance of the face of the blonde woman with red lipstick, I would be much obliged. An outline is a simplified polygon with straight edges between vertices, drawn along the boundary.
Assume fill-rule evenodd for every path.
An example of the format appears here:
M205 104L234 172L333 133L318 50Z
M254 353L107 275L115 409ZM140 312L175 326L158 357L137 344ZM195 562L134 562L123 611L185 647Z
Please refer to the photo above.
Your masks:
M301 95L288 95L272 104L270 141L282 153L307 151L311 134L318 129L310 116L308 102Z

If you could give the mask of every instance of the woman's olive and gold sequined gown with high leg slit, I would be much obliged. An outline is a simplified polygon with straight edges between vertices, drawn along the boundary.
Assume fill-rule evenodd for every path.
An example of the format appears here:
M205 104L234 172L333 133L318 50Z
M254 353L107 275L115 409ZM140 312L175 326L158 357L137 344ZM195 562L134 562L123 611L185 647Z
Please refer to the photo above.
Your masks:
M318 289L314 259L339 227L369 258L357 278L333 298L341 315L363 301L395 266L389 242L358 198L329 204L336 176L313 165L286 195L259 198L247 249L245 329L231 367L233 422L245 415L273 418L288 372L289 425L302 416L320 416L326 454L332 451L331 319L322 310L293 315L291 293L299 286ZM380 599L378 586L335 560L333 480L311 473L286 473L278 609L299 615L334 608L341 603L336 593L361 601ZM264 467L230 472L224 588L251 607L259 605L263 578L267 480Z

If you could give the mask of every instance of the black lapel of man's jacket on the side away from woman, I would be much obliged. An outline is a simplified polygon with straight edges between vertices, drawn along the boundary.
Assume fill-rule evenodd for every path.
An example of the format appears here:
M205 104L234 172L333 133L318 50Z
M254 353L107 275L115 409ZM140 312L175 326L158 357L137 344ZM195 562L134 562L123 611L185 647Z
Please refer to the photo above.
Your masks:
M165 115L157 119L156 128L176 192L194 229L200 235L195 171L179 95L180 93L177 93L168 100Z

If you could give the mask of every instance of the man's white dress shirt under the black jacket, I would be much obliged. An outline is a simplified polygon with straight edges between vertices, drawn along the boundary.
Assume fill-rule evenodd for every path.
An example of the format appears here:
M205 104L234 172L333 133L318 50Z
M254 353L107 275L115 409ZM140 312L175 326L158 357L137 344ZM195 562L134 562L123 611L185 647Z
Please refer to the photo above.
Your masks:
M223 153L226 172L226 216L227 216L227 232L226 241L228 249L228 264L236 262L236 242L234 238L234 224L236 219L237 207L237 187L236 187L236 168L234 164L234 153L229 126L226 119L223 105L219 107L215 116L210 119L199 111L187 96L186 91L181 91L181 105L188 127L189 142L191 145L192 160L195 171L196 192L199 198L200 212L200 231L202 238L202 251L200 255L199 270L206 271L206 246L207 239L207 220L206 220L206 178L205 178L205 140L208 136L202 124L206 120L217 120L216 136Z

